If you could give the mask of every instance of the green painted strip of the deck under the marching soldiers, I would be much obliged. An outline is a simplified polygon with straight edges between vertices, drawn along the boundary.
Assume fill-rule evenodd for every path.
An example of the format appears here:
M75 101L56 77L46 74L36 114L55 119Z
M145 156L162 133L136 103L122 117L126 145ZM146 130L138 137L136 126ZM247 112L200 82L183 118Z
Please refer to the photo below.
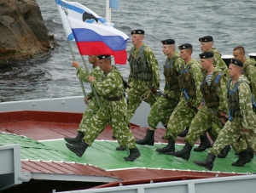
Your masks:
M21 158L42 161L65 161L88 163L102 169L117 169L127 167L150 167L178 170L204 170L204 167L196 166L194 160L204 160L207 157L207 151L191 151L189 161L174 156L162 155L155 151L158 147L164 147L164 144L154 146L138 145L141 155L135 162L125 162L124 156L128 156L128 151L117 151L119 146L114 141L95 141L89 147L82 157L76 156L67 149L63 140L38 142L32 139L20 137L17 135L0 134L0 145L20 144ZM181 150L183 145L176 145L176 150ZM255 173L256 158L247 163L245 167L233 167L232 162L238 159L234 150L230 150L229 156L224 159L216 158L212 171L235 172L235 173Z

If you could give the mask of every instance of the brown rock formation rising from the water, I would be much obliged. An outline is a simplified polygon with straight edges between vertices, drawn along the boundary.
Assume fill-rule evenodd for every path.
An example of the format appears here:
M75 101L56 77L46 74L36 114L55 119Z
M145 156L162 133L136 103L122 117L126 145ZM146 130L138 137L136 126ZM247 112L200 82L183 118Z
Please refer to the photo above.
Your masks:
M53 48L36 0L0 0L0 67Z

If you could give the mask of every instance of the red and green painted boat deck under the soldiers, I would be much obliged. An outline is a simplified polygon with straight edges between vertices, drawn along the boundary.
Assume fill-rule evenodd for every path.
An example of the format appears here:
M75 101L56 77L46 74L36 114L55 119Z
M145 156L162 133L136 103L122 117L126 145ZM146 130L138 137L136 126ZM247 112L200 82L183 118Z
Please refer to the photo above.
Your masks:
M205 159L207 151L192 151L189 161L159 154L155 149L167 143L161 139L164 128L156 130L154 145L137 145L142 156L135 162L125 162L126 150L115 150L119 144L112 139L110 126L79 157L67 149L63 138L77 134L81 116L82 113L53 111L0 112L0 145L20 144L22 171L32 173L32 179L96 182L100 184L97 187L150 183L151 180L215 178L217 174L224 177L256 171L255 159L245 167L232 167L231 163L237 160L234 150L224 159L217 158L213 171L205 171L193 163ZM131 125L136 139L143 139L146 130ZM183 139L178 138L176 150L182 148Z

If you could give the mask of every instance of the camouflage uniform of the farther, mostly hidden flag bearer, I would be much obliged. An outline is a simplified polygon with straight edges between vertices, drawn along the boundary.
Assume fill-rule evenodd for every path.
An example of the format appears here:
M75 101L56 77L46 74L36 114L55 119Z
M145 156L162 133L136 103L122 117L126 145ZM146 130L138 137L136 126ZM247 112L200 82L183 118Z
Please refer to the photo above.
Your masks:
M103 71L101 70L101 68L99 66L96 66L95 68L93 68L90 71L90 75L92 77L95 77L96 81L102 81ZM84 71L82 67L79 67L77 69L77 77L79 77L79 79L84 82L89 82L88 78L87 78L88 73L87 73L87 71ZM91 90L93 89L92 84L90 85L90 88L91 88ZM99 110L99 106L97 105L96 96L95 96L94 92L91 91L90 94L87 94L87 96L90 96L90 102L87 105L87 109L86 109L86 111L84 111L84 115L79 124L78 131L80 131L80 132L86 132L86 129L90 128L91 118L92 118L92 116L96 115L96 112ZM101 98L98 97L98 99L101 99Z

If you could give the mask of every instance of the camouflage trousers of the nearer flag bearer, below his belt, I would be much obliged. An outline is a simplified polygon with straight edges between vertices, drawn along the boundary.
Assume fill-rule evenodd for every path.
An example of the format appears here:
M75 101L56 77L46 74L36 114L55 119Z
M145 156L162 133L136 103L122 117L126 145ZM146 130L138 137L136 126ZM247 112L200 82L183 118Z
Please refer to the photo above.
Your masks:
M90 128L84 133L84 142L91 145L97 136L102 133L104 128L111 122L113 134L119 142L126 148L132 149L135 145L135 139L128 128L125 112L127 109L126 99L119 101L102 100L102 105L96 115L92 117Z

